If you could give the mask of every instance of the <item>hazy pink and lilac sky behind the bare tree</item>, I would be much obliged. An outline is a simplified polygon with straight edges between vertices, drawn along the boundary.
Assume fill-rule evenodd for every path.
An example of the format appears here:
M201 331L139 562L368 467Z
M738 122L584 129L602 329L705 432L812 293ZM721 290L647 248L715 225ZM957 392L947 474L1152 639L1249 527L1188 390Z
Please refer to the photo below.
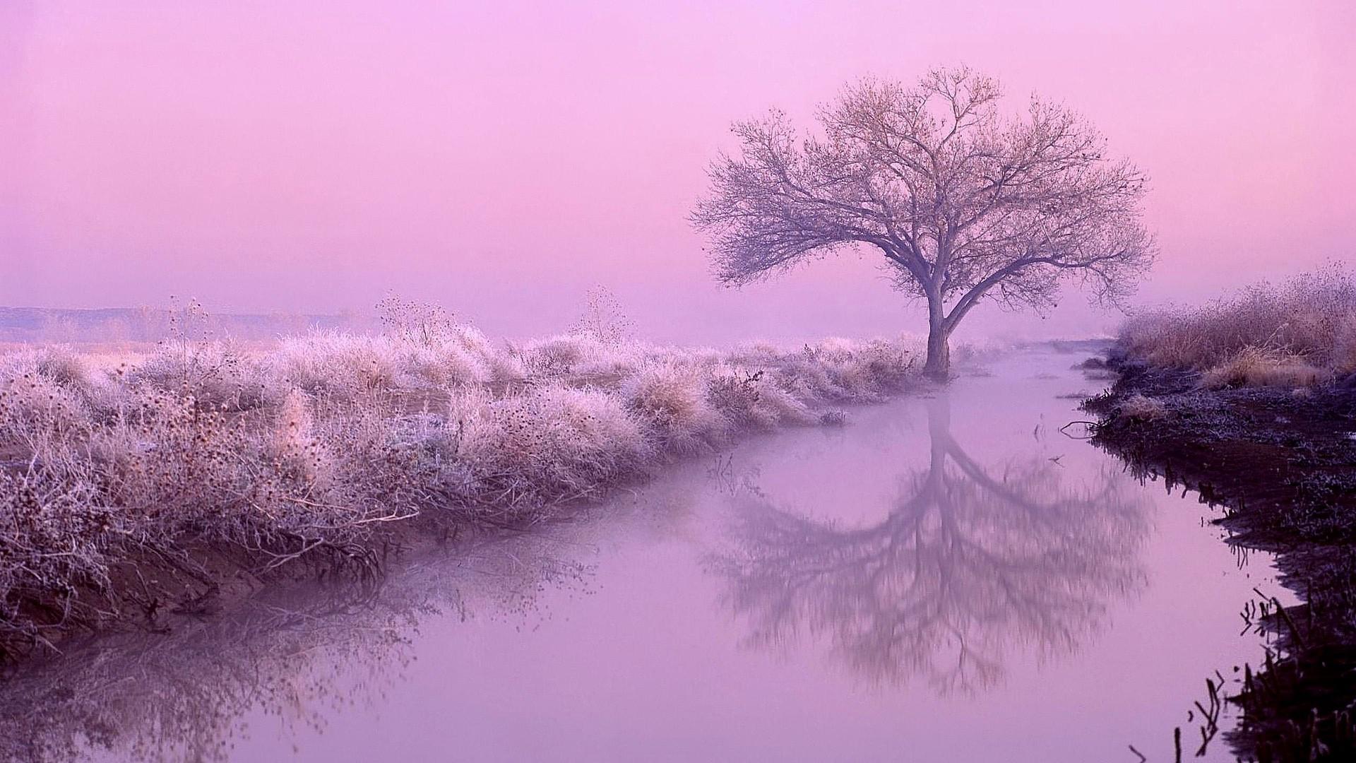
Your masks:
M530 334L601 282L664 339L917 327L871 257L716 286L685 216L731 121L952 62L1135 159L1162 246L1140 299L1201 299L1356 261L1351 5L0 0L0 304L395 289Z

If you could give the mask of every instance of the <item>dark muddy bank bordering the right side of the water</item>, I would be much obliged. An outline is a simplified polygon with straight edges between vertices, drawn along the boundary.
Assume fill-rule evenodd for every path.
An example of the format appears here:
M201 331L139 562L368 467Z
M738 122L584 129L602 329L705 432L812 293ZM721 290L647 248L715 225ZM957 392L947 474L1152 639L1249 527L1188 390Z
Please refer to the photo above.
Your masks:
M1306 601L1242 612L1276 646L1230 696L1242 710L1227 734L1235 752L1356 759L1356 386L1203 390L1195 372L1116 352L1106 365L1119 380L1083 405L1100 420L1093 441L1140 475L1223 506L1231 543L1277 553L1285 585ZM1123 414L1135 395L1158 405Z

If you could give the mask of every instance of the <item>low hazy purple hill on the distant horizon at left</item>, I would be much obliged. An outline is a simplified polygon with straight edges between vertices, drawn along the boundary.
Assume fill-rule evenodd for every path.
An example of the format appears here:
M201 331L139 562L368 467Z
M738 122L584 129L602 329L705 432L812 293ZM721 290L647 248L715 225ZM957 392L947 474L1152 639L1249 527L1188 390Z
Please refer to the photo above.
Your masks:
M270 339L312 329L365 329L346 315L190 314L183 310L102 307L58 310L0 307L0 342L155 342L172 333L190 337Z

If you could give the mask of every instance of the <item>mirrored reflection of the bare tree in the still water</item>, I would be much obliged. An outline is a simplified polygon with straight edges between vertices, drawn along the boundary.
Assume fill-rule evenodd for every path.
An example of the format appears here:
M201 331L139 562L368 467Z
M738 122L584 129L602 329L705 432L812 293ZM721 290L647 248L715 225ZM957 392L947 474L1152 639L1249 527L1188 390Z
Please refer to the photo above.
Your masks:
M755 483L735 494L736 540L711 566L751 645L808 634L869 682L968 692L997 683L1014 648L1074 650L1143 585L1132 481L1075 479L1044 455L980 464L951 433L949 401L926 405L928 466L875 524L810 519Z

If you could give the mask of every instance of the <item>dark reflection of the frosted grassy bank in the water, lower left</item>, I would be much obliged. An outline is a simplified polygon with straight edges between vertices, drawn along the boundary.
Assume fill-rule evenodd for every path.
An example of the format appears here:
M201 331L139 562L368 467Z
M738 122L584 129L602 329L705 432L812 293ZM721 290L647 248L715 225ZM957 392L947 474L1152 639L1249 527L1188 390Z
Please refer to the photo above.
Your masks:
M380 703L403 680L430 616L544 618L542 591L587 588L590 567L556 540L468 544L380 591L293 591L168 638L123 634L69 649L0 683L0 759L226 760L260 713L282 739L323 732L340 707Z

